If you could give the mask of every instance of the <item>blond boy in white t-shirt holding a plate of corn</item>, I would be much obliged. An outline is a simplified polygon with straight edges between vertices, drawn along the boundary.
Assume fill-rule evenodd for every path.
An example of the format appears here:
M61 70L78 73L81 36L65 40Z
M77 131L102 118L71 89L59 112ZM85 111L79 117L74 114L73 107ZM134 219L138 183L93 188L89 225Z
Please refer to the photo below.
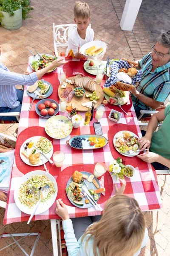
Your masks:
M74 22L77 24L77 28L68 37L68 49L65 56L81 59L85 58L85 56L80 53L80 47L94 39L94 30L88 28L90 9L87 3L75 3Z

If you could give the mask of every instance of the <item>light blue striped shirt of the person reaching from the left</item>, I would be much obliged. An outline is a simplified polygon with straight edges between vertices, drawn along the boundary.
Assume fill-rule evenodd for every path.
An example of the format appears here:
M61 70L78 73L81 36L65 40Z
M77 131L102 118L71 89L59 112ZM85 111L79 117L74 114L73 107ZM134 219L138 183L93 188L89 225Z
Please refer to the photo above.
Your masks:
M0 107L17 108L20 102L15 85L33 85L37 80L35 72L28 76L13 73L0 63Z

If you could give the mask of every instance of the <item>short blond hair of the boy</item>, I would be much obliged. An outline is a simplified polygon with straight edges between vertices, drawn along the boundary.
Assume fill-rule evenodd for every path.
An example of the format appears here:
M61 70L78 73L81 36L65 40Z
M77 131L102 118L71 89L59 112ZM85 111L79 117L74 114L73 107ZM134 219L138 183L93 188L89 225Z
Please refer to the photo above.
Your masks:
M76 2L74 5L74 17L82 17L83 19L90 17L90 9L87 3Z

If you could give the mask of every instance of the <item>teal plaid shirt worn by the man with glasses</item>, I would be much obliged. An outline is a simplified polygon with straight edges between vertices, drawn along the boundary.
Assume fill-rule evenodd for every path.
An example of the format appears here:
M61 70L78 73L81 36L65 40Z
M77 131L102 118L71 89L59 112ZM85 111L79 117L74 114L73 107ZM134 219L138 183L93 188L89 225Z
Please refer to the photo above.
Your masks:
M143 74L136 90L143 95L155 99L159 102L164 102L170 94L170 61L161 67L152 70L152 56L151 53L145 55L140 61ZM141 102L136 96L132 95L133 105L138 105L142 109L152 110Z

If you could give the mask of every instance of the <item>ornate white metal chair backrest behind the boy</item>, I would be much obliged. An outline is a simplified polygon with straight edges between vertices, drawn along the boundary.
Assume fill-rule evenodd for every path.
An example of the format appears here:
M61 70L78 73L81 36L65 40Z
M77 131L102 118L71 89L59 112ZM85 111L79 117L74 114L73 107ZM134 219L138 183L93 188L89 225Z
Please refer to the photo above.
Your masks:
M91 24L89 24L88 27L91 28ZM57 48L68 46L68 37L76 28L76 24L55 25L55 23L53 23L54 51L57 57Z

